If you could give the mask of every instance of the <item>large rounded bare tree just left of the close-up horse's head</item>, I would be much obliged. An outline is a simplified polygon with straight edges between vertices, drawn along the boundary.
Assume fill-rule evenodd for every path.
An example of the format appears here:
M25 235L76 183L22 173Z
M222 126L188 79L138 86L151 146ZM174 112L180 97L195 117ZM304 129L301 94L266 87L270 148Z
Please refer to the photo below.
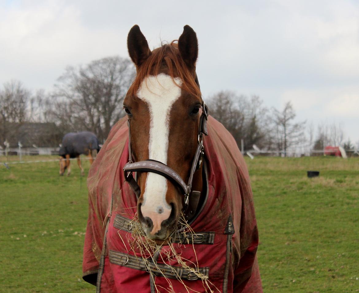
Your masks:
M75 126L72 128L92 131L103 141L124 115L122 101L134 76L132 62L121 57L92 61L85 68L67 68L55 94L57 111L63 111L58 116Z

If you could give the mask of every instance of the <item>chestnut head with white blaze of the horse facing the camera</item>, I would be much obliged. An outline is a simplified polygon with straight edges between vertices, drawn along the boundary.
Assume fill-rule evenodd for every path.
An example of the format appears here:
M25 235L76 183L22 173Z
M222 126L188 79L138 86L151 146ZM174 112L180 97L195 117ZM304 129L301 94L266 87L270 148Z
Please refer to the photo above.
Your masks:
M178 42L151 51L135 25L127 47L137 71L123 102L130 129L129 163L133 159L131 166L136 166L135 162L152 166L150 171L136 169L140 190L137 215L148 238L167 239L188 204L186 185L181 188L174 177L192 181L192 167L198 169L194 158L202 140L199 125L204 103L196 82L197 37L186 25ZM200 170L201 166L188 189L201 191ZM165 176L166 172L172 175Z

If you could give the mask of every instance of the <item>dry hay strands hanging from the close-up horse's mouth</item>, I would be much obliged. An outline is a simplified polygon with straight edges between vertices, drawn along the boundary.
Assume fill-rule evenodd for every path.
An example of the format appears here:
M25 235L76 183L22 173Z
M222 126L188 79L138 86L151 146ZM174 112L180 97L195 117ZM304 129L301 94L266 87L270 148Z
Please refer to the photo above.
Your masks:
M140 224L140 222L137 218L137 214L135 214L134 218L131 220L130 223L131 223L132 231L126 234L127 242L130 245L129 248L126 247L125 241L122 239L120 233L118 233L118 235L120 236L123 244L125 245L126 249L128 250L127 253L132 251L132 252L134 252L135 256L139 256L139 255L141 256L142 261L144 262L144 264L146 266L146 271L149 272L150 277L153 280L153 284L156 289L156 292L160 292L159 289L164 289L166 292L174 293L174 290L173 290L173 286L171 283L171 279L167 278L167 276L165 276L164 274L162 274L161 277L165 278L165 280L167 281L168 288L163 288L163 287L156 285L156 283L155 283L156 275L153 274L153 272L150 268L155 266L157 268L157 271L160 273L161 273L161 269L158 267L157 260L154 257L155 255L158 255L159 259L162 260L163 264L167 265L171 269L172 269L172 266L170 264L168 264L167 262L169 262L171 260L176 260L182 268L191 271L194 275L197 276L197 278L199 280L202 280L205 292L213 293L214 290L212 288L214 288L215 290L220 292L220 290L218 288L216 288L208 280L208 276L200 273L199 264L198 264L198 260L197 260L197 254L195 251L195 245L193 244L194 243L193 239L192 239L192 244L190 244L189 239L187 239L186 237L183 237L183 239L187 239L187 243L179 243L178 245L183 245L183 246L191 245L191 247L194 251L196 263L191 262L190 260L184 259L181 256L181 254L179 254L176 251L176 249L174 247L174 236L176 235L176 233L177 234L183 233L184 235L186 235L186 233L190 233L190 235L192 235L192 238L193 238L193 235L196 234L192 230L190 225L188 225L183 213L181 213L181 216L180 216L180 219L178 220L178 225L177 225L175 231L165 240L159 240L159 239L152 240L152 239L147 238L145 235L145 232L142 228L142 225ZM161 254L160 252L164 245L166 246L167 251L162 251L162 254ZM186 261L190 262L192 266L188 266ZM173 270L175 270L175 269L173 269ZM185 289L188 293L189 292L197 292L197 291L191 289L190 287L188 287L183 282L182 279L177 278L177 280L182 283L182 285L185 287Z

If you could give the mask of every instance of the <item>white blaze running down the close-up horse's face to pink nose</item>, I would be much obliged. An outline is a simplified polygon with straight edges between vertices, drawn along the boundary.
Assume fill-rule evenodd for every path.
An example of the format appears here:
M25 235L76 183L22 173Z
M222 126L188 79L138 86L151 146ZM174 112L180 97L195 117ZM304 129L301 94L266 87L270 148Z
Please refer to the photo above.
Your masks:
M174 79L181 86L179 78ZM145 101L150 112L150 138L148 158L167 164L169 114L174 102L181 96L181 89L171 76L159 74L143 80L137 96ZM147 174L141 212L153 222L151 234L161 229L163 220L171 214L171 206L166 202L167 180L156 173Z

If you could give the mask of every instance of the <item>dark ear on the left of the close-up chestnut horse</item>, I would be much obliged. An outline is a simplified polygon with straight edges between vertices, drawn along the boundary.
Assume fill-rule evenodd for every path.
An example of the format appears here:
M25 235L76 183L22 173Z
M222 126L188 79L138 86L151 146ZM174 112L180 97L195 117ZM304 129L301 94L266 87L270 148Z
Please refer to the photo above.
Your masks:
M127 36L127 49L129 50L131 60L137 67L141 66L151 55L147 40L137 24L130 29Z

